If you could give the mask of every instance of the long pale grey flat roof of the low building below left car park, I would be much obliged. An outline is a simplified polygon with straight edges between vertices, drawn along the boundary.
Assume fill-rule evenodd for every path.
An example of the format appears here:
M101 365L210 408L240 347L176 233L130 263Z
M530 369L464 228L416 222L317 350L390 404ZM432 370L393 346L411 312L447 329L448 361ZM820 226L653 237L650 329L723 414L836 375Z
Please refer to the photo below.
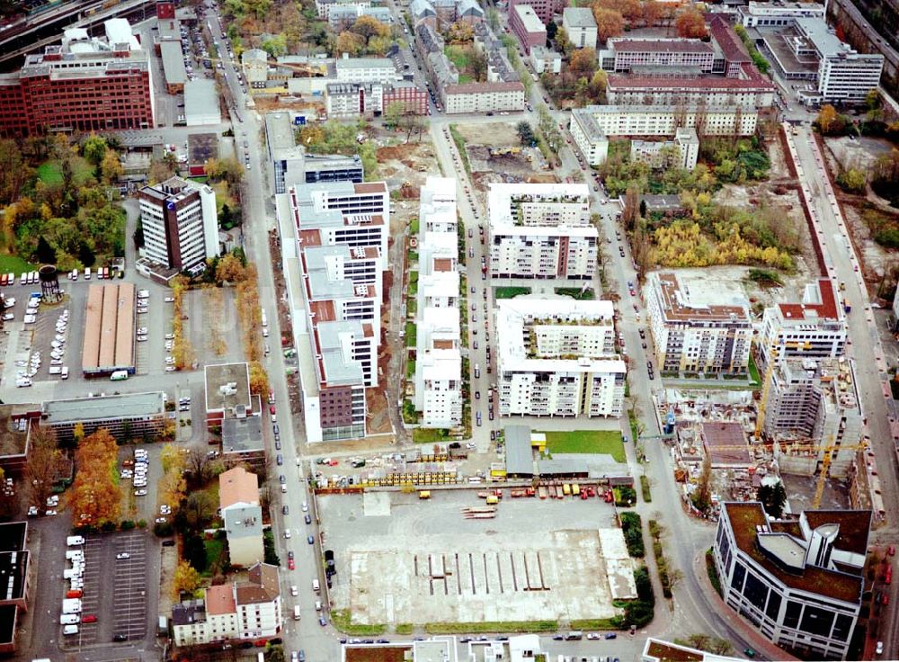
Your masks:
M41 418L48 425L65 425L79 421L149 418L165 414L165 393L122 393L97 398L49 400L44 403Z

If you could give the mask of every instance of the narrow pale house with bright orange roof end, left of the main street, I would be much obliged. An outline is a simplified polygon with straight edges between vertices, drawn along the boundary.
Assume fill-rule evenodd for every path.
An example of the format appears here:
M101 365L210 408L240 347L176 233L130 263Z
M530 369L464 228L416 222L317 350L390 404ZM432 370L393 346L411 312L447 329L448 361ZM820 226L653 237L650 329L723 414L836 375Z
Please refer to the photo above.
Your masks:
M232 566L261 563L263 509L259 505L259 478L244 467L218 474L218 512L225 523L228 559Z

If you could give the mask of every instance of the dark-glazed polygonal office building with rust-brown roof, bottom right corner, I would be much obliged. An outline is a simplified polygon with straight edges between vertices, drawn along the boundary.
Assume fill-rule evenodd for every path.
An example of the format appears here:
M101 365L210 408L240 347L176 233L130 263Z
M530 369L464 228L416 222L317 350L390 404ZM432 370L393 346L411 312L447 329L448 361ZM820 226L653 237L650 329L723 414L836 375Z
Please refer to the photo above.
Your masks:
M845 659L859 620L869 510L770 519L760 503L721 505L713 545L725 603L769 640Z

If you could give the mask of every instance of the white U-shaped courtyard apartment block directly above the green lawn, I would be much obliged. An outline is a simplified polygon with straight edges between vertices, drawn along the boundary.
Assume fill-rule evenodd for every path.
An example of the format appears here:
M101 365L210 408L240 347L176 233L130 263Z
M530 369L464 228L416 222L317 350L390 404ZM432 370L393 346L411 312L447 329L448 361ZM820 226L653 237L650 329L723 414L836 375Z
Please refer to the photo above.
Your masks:
M613 314L610 301L498 301L500 416L621 416Z

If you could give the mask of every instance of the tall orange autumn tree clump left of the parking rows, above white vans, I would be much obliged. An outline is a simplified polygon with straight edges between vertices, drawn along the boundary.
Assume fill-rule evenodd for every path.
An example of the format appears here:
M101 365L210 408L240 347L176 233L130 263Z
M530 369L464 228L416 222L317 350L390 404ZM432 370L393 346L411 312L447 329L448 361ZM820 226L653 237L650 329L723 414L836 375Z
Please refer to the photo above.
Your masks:
M121 488L115 482L119 445L106 428L88 434L76 451L76 476L69 504L80 523L115 523L121 510Z

